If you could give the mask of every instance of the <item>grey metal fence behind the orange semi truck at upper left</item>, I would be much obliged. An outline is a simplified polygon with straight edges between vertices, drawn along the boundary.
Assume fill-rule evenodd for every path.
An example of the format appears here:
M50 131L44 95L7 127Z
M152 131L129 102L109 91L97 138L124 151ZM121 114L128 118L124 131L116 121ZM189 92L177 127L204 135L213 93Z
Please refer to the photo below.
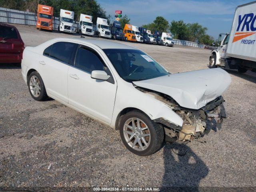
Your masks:
M37 14L0 7L0 22L36 26ZM60 21L58 17L53 19L53 29L58 30ZM78 22L75 23L75 28Z

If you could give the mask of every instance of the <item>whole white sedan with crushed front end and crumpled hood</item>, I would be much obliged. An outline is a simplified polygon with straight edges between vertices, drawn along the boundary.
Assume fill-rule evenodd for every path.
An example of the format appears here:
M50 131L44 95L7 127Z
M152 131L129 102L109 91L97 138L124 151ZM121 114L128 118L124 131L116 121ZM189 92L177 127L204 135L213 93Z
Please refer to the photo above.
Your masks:
M82 38L26 47L22 76L32 98L49 96L119 130L140 156L164 139L183 143L208 133L206 121L224 117L221 95L231 82L220 68L171 74L137 48Z

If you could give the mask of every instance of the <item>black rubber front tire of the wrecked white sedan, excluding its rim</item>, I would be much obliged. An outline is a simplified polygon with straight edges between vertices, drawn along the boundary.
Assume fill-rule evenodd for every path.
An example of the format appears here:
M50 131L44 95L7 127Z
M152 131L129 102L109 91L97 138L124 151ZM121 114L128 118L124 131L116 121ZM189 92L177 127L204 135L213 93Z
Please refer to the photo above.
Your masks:
M142 150L142 151L135 150L126 142L123 128L126 120L128 120L129 118L139 118L148 126L151 139L150 139L149 146L145 150ZM121 136L122 142L124 143L126 148L139 156L148 156L148 155L154 154L156 151L158 151L161 148L164 141L163 127L160 124L157 124L154 121L152 121L146 114L138 110L130 111L126 113L124 116L122 116L119 130L120 130L120 136Z

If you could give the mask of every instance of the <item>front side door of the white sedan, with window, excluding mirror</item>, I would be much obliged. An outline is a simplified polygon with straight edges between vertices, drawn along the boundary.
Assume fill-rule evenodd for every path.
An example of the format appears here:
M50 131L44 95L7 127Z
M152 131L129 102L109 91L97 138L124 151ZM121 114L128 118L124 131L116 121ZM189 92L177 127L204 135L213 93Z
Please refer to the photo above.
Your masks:
M104 70L108 80L91 78L93 70ZM95 50L80 46L74 66L68 70L68 103L108 124L111 123L117 85Z

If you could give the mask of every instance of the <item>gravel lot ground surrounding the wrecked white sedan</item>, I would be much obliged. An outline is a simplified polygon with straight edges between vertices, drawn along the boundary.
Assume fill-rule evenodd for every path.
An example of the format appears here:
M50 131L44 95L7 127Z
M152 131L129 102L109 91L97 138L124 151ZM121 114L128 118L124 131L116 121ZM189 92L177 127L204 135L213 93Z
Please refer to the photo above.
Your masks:
M26 46L74 37L17 27ZM210 50L121 43L142 49L173 73L208 68ZM232 77L224 94L228 118L220 130L212 130L203 142L166 144L156 154L140 157L126 150L119 132L112 128L55 100L33 100L21 69L1 64L0 190L127 185L255 187L256 75L227 71ZM172 149L186 155L178 156Z

